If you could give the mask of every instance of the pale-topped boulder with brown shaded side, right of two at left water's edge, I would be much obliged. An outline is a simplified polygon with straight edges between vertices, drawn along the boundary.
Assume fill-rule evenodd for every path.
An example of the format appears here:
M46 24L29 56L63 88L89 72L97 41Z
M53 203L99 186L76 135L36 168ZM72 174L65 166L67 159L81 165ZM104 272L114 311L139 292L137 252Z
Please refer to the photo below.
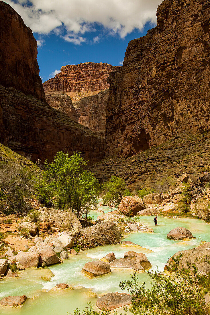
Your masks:
M40 254L41 260L39 260L39 266L49 266L60 261L54 250L43 242L37 242L28 252Z

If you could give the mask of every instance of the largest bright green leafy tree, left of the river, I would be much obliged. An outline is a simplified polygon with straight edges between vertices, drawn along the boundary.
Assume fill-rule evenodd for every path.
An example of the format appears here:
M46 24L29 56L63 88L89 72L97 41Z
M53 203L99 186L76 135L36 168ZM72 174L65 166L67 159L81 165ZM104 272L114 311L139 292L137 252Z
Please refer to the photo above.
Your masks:
M72 209L79 218L88 206L97 203L98 181L91 172L85 170L87 162L74 152L58 152L54 163L44 163L44 176L38 187L38 195L53 200L59 209Z

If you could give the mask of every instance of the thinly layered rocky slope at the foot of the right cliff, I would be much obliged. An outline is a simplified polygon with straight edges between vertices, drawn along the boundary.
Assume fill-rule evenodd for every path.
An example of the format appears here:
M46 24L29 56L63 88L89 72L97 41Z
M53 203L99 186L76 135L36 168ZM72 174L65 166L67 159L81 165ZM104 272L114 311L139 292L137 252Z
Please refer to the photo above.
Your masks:
M101 183L114 175L122 177L131 190L154 188L164 180L173 184L184 173L199 175L210 170L209 146L210 133L183 134L133 157L107 157L90 170Z

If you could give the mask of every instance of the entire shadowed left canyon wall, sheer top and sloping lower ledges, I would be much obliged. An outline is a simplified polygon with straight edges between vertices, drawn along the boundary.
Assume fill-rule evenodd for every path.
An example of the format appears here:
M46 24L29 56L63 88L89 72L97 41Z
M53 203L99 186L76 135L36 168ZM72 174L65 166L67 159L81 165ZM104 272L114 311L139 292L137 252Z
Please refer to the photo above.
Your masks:
M20 15L2 1L0 32L0 142L33 161L52 161L61 150L81 152L89 164L100 160L103 140L45 102L37 42Z

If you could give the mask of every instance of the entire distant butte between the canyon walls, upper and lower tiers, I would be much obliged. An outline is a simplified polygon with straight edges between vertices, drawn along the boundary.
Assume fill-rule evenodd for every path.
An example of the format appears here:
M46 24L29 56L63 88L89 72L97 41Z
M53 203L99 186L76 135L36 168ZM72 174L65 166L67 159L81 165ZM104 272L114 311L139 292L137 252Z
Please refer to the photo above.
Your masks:
M66 113L97 135L104 137L108 101L107 80L109 73L118 68L94 62L63 66L60 73L43 83L46 100L50 106ZM72 98L73 107L62 101L62 105L58 108L60 93L62 93L62 99L65 97L63 92L66 92L66 99L69 96ZM78 101L77 98L79 98ZM78 112L79 120L75 116L75 111Z

